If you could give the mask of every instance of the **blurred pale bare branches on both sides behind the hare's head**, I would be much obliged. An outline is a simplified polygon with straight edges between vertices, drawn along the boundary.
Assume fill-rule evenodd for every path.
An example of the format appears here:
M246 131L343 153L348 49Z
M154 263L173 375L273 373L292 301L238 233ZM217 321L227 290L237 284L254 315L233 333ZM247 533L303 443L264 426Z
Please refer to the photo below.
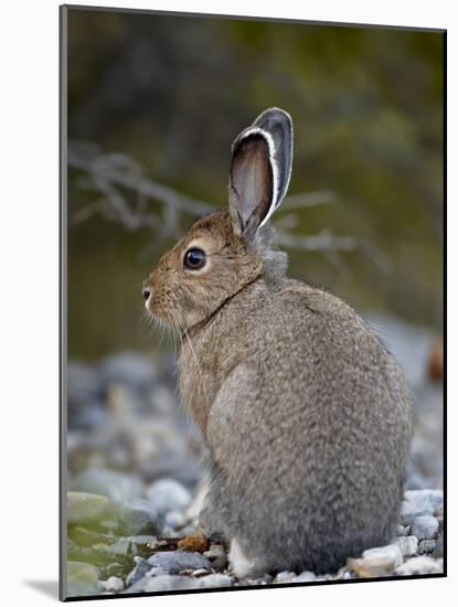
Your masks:
M160 235L179 233L181 212L200 216L214 207L207 202L184 196L171 188L157 183L142 175L141 166L121 153L102 153L95 146L72 141L68 149L68 166L84 171L81 185L93 189L103 198L75 213L73 221L83 222L98 213L106 220L121 224L126 230L143 227L160 230ZM148 210L149 201L161 203L158 211ZM280 215L275 225L278 243L286 248L320 252L337 267L343 266L340 253L360 251L371 258L383 271L390 270L390 262L383 253L370 243L354 236L337 236L329 231L317 235L302 235L290 232L297 227L300 209L335 202L332 191L308 192L285 199L284 210L296 210ZM281 207L280 207L281 209Z

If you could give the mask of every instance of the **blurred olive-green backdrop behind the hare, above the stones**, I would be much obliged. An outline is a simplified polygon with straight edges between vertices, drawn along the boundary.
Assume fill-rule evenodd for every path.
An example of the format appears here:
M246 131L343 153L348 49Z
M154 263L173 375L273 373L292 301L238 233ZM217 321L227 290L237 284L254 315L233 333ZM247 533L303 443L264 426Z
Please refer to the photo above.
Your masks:
M441 330L440 32L67 14L71 356L157 347L140 285L195 214L170 217L135 175L224 205L231 142L269 106L295 125L289 193L300 196L279 227L335 239L335 251L290 247L290 274L361 312ZM127 222L117 204L156 225ZM365 244L340 251L343 235Z

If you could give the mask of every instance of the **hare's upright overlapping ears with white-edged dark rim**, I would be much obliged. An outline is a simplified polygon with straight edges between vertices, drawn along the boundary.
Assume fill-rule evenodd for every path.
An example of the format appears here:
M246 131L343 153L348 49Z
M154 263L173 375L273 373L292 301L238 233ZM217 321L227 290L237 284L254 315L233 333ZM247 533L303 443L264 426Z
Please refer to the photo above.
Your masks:
M289 184L292 124L270 108L235 139L230 170L230 212L234 230L253 237L280 205Z

